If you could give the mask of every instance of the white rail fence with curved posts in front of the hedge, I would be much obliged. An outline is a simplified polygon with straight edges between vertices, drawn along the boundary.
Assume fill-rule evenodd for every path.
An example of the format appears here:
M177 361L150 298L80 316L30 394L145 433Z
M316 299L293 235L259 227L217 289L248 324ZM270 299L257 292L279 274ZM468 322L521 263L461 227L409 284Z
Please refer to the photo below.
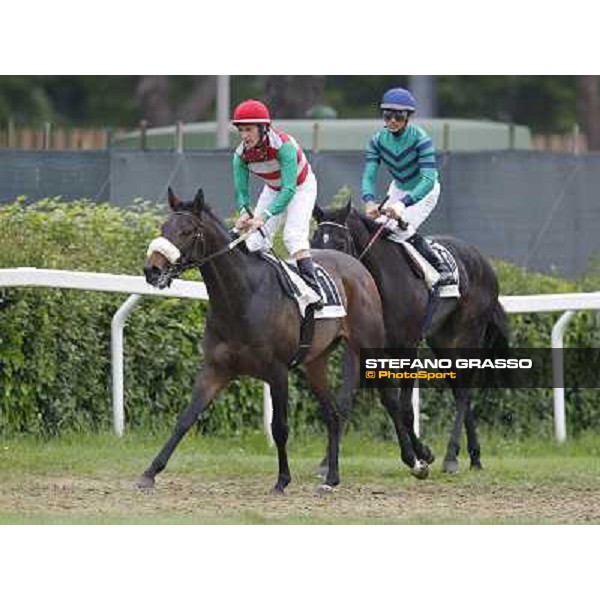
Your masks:
M60 271L21 267L0 269L0 288L8 287L45 287L87 290L96 292L116 292L130 294L121 305L112 320L111 365L113 382L113 424L115 433L123 435L124 417L124 373L123 373L123 330L127 317L140 301L141 296L171 298L189 298L208 300L206 286L200 282L176 280L165 290L148 285L143 277L132 275L111 275L108 273L86 273L79 271ZM562 348L564 332L569 321L577 311L600 310L600 292L579 294L540 294L529 296L501 296L500 301L506 312L547 313L562 312L552 329L552 347ZM554 425L556 439L563 442L567 438L565 420L565 393L563 364L558 353L553 353L554 384ZM264 425L270 435L271 405L267 385L264 387ZM419 427L419 389L413 393L415 405L415 426Z

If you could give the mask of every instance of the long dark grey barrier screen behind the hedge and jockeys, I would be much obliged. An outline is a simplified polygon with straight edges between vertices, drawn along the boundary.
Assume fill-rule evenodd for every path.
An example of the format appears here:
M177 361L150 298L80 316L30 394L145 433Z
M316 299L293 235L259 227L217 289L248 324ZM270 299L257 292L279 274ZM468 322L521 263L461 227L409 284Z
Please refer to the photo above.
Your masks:
M322 206L342 187L361 205L363 152L307 154ZM169 185L182 198L203 187L208 203L226 217L235 211L231 160L227 150L1 150L0 201L62 195L127 206L135 198L165 203ZM442 193L423 233L454 235L488 257L567 277L581 274L600 254L600 154L461 152L439 154L437 161ZM380 197L388 185L382 167ZM260 189L253 177L253 203Z

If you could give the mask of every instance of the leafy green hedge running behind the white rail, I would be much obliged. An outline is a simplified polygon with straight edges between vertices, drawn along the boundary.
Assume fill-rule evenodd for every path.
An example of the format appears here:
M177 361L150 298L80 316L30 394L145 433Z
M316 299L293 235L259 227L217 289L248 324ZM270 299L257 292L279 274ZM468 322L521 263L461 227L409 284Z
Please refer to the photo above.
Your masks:
M59 198L0 207L0 268L31 266L140 275L148 242L164 218L140 202L128 210ZM580 282L495 264L503 294L598 289L595 271ZM192 274L191 278L196 277ZM95 431L111 427L110 324L125 295L69 290L0 290L0 432L4 435ZM129 317L125 344L128 427L170 427L189 400L202 362L206 303L144 299ZM511 318L516 346L550 344L555 316ZM567 345L597 346L595 317L577 316ZM332 379L339 384L339 369ZM293 373L290 425L295 432L321 429L318 404L302 375ZM567 391L571 431L599 422L595 390ZM447 429L448 392L424 390L424 431ZM375 406L377 405L377 406ZM551 433L551 390L503 390L476 394L475 410L485 426L514 433ZM235 434L262 424L262 385L242 378L207 411L199 427ZM392 436L376 395L359 393L351 428Z

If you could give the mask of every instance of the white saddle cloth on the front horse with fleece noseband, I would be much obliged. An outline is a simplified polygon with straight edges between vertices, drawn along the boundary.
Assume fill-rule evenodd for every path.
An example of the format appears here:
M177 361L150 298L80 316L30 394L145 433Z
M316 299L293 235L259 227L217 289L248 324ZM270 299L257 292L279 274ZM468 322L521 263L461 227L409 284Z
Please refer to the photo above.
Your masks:
M298 310L304 318L306 307L315 300L316 294L298 274L295 262L279 260L266 252L261 252L261 256L279 271L283 279L282 286L284 290L296 301ZM321 265L316 262L314 265L317 282L321 290L321 300L323 301L323 308L315 311L314 318L339 319L345 317L346 309L335 281Z

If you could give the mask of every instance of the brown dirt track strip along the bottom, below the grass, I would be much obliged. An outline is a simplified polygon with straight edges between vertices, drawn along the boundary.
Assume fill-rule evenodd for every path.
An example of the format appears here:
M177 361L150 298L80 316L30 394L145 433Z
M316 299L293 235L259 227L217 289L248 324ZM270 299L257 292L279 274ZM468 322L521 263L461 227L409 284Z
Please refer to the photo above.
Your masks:
M161 478L150 493L130 480L27 477L0 485L0 513L116 517L118 521L169 515L198 522L600 522L600 485L506 484L460 479L394 485L344 483L326 497L313 495L316 480L292 483L273 497L266 478L201 481ZM458 478L461 476L458 475Z

